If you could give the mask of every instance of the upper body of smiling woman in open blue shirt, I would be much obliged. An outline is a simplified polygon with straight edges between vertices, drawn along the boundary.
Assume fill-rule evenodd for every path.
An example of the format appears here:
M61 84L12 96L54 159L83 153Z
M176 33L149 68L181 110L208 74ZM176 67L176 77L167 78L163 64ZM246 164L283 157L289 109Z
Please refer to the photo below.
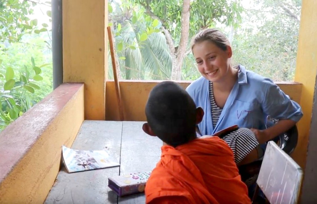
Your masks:
M251 129L265 150L265 143L290 129L302 117L301 107L272 80L232 66L232 50L227 37L217 29L199 32L192 41L192 51L202 77L187 87L187 92L205 116L198 125L202 135L237 124ZM266 128L267 116L279 119ZM262 154L263 152L261 152Z

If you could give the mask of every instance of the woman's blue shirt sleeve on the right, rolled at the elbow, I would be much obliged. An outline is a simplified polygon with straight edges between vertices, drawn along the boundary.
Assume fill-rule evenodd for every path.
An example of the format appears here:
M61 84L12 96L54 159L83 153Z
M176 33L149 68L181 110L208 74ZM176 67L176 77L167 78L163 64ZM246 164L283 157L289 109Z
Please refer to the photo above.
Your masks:
M269 80L266 81L262 108L264 113L275 119L290 119L298 122L303 116L301 106Z

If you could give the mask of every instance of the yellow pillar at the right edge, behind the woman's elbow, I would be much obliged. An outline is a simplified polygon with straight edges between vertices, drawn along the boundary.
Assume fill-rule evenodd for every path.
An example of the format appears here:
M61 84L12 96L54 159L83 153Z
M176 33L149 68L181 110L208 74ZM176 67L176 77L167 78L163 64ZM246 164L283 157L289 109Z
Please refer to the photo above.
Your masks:
M304 116L298 123L299 141L294 160L305 168L308 135L310 130L314 87L317 71L317 1L303 0L298 40L295 81L303 84L301 107Z

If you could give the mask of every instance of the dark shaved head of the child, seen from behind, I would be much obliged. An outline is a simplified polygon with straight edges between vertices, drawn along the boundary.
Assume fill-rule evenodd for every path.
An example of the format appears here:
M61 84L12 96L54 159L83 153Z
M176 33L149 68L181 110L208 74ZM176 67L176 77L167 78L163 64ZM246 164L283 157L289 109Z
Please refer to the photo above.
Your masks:
M153 133L171 146L176 147L196 137L196 105L175 82L164 81L152 89L145 113Z

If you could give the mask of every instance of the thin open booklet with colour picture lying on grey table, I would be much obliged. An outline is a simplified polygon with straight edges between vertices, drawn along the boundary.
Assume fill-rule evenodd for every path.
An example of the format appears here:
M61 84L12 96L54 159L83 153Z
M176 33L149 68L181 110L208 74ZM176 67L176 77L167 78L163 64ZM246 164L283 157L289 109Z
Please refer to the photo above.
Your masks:
M62 157L68 173L120 166L105 150L74 150L63 145Z

